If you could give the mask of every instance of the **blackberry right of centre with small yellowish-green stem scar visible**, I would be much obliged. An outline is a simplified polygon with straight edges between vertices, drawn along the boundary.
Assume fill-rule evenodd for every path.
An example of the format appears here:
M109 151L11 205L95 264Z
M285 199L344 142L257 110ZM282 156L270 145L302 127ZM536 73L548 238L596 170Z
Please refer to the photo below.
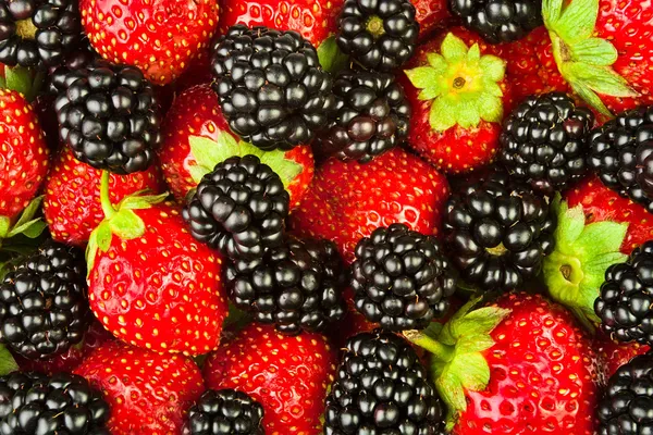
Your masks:
M470 284L509 290L540 273L555 224L544 197L496 171L449 198L445 244Z

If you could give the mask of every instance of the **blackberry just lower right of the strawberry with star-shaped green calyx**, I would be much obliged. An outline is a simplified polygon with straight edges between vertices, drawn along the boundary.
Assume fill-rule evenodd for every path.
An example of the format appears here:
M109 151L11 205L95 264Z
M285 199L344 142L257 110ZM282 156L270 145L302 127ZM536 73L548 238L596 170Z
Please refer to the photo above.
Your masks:
M565 94L528 97L504 124L501 162L538 191L563 190L586 173L593 123L592 112Z

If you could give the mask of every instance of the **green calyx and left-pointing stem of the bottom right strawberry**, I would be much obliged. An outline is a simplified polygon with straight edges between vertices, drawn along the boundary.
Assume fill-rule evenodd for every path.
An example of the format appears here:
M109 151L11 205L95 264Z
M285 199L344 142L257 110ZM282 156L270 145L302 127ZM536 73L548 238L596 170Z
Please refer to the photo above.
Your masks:
M432 323L422 332L404 332L407 339L432 356L431 375L447 405L449 430L467 409L465 391L482 391L490 383L483 351L494 346L492 331L510 314L510 310L498 307L472 310L480 300L472 299L444 326Z

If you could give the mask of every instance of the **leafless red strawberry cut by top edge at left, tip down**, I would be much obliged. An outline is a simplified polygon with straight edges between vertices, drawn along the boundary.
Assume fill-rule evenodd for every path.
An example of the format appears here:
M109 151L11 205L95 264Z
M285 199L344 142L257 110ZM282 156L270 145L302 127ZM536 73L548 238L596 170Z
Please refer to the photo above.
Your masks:
M98 53L139 67L156 85L177 78L218 25L215 0L81 0L79 10Z

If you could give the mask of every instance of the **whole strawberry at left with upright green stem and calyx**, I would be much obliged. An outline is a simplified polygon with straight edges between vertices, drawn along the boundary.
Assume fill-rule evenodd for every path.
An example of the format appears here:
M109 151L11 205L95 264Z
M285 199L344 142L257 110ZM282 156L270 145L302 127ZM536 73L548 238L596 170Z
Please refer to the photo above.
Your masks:
M207 353L227 311L222 259L195 240L181 210L161 197L127 197L113 208L102 175L104 221L88 249L88 299L104 327L134 346Z

